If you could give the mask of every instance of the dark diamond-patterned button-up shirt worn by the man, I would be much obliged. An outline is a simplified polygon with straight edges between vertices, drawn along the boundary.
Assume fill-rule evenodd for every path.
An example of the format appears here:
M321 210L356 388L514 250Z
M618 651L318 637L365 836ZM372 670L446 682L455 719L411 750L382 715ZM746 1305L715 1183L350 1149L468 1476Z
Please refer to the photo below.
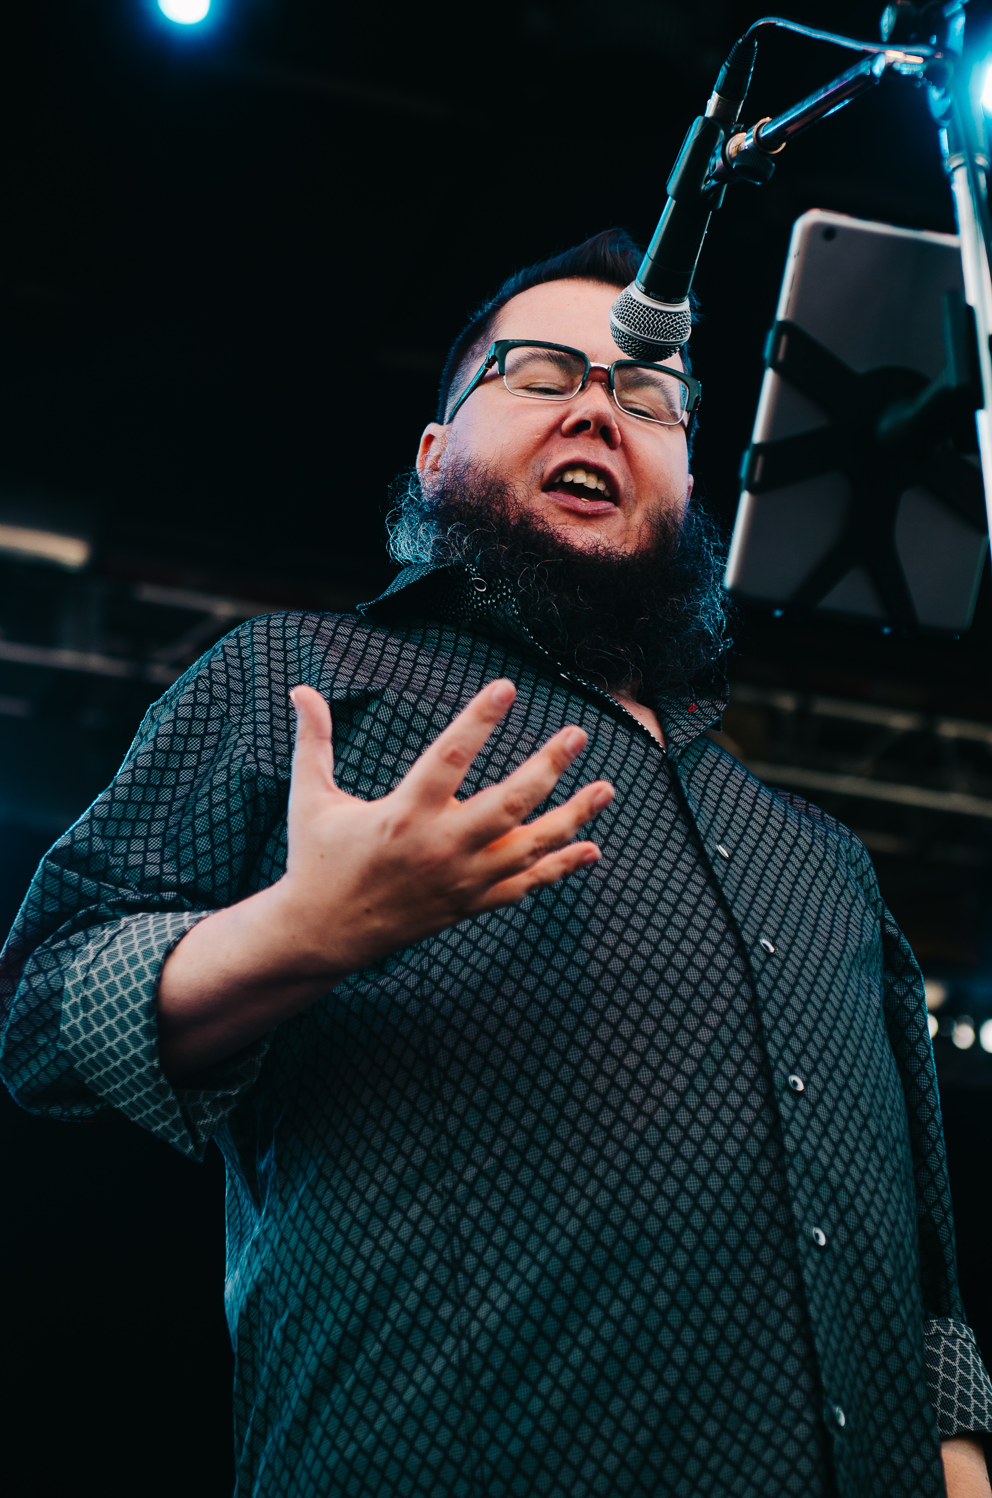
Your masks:
M503 674L465 792L578 722L551 801L616 783L602 860L172 1086L162 962L285 867L289 688L373 797ZM655 706L667 755L505 589L409 569L364 620L229 635L43 860L3 1076L220 1143L238 1494L938 1495L940 1434L992 1428L922 981L868 854L706 737L719 692Z

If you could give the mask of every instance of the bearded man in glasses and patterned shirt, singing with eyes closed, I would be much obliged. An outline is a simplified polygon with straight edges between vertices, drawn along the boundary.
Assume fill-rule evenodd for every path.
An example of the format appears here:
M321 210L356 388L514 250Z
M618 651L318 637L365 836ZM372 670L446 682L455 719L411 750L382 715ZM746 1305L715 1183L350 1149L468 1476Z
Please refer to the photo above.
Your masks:
M506 282L406 569L204 656L4 948L25 1107L225 1153L246 1498L989 1494L919 969L707 737L698 386L613 343L637 264Z

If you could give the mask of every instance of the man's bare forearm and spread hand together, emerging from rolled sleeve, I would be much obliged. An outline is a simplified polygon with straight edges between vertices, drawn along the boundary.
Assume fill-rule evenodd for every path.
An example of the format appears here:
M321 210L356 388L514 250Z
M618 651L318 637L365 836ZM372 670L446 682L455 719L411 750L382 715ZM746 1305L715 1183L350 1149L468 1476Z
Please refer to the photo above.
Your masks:
M514 697L511 682L484 688L390 795L363 801L334 783L327 703L294 688L286 873L199 921L166 959L166 1071L210 1065L349 972L596 861L595 843L571 839L613 798L605 780L521 825L584 748L581 728L562 728L499 785L457 800Z

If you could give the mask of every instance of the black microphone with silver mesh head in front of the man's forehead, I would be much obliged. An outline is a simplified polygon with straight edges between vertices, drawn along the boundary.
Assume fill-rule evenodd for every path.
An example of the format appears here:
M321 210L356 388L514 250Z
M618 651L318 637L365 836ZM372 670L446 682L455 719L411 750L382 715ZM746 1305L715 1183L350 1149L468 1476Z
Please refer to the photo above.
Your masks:
M742 178L766 181L773 163L758 151L746 160L718 154L725 136L733 136L754 72L757 36L734 42L719 70L706 114L689 126L682 150L671 168L668 201L647 253L631 285L610 309L610 331L628 358L667 360L688 342L692 328L689 288L703 249L710 214L719 208L730 172L740 168ZM751 157L758 157L751 160Z

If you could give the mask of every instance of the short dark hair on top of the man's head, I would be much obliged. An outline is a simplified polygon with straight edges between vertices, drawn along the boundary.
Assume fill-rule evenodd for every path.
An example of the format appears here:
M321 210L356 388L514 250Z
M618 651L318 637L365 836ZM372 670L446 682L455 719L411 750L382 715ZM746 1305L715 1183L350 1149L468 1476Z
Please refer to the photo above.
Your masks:
M551 255L536 265L524 265L523 270L508 276L495 297L484 301L478 312L472 313L462 333L451 345L445 360L441 388L438 391L438 421L444 424L451 400L451 386L459 370L469 355L481 360L492 343L493 324L502 307L521 291L532 286L544 286L551 280L592 280L605 286L629 286L637 276L644 252L634 244L626 229L602 229L593 234L583 244L575 244L571 250ZM689 297L695 312L695 301ZM689 373L689 351L682 351L682 363Z

